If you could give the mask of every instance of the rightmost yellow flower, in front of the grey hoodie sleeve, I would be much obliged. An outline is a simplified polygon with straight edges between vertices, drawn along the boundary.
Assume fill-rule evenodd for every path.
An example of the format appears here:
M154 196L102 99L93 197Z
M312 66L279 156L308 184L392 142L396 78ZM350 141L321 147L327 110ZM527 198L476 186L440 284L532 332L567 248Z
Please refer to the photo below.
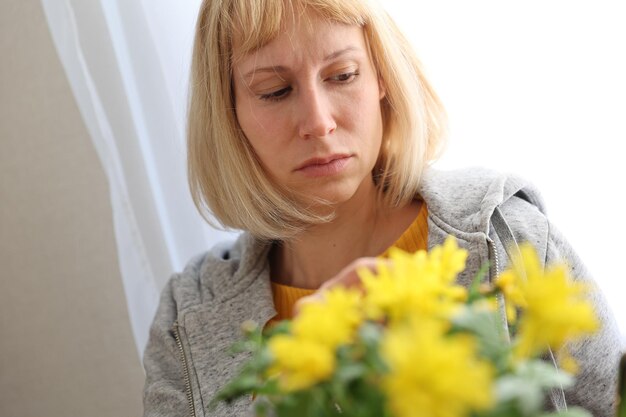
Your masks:
M530 244L522 245L520 251L522 258L516 264L523 265L524 271L513 267L497 281L507 302L523 309L516 355L531 357L548 346L558 350L566 342L597 330L598 319L588 299L589 286L572 281L565 264L542 270ZM571 368L572 361L566 361Z

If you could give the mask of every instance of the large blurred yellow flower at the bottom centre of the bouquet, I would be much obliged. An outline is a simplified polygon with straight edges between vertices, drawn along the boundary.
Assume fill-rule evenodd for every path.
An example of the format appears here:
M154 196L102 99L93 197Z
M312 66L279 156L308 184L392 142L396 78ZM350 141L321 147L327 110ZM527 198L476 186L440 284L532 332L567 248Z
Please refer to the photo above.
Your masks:
M435 320L411 320L385 335L382 387L396 417L459 417L493 403L493 370L468 335L445 336Z

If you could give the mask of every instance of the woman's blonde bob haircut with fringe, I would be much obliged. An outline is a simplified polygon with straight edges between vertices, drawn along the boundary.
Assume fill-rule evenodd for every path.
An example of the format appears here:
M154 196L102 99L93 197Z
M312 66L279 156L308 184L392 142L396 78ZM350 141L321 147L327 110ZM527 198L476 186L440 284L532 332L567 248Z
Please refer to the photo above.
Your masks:
M238 55L254 52L284 30L285 19L310 10L363 28L385 88L382 146L372 172L378 198L390 207L414 199L424 168L443 148L444 108L412 47L375 0L204 0L191 65L187 159L193 201L214 226L286 240L333 217L272 182L235 114L233 40Z

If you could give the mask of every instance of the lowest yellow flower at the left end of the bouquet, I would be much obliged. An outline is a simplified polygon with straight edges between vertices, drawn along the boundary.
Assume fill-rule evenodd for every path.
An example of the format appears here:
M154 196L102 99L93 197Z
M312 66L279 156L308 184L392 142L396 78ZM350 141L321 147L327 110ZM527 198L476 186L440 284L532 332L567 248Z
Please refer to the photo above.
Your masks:
M309 388L335 370L334 350L315 341L276 335L268 346L274 358L268 375L278 377L284 391Z

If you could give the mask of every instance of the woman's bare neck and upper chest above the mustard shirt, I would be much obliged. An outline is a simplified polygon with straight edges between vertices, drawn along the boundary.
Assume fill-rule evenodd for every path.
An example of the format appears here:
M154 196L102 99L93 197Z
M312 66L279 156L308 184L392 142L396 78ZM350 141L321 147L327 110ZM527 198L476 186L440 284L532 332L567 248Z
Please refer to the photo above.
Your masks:
M336 208L330 223L307 229L275 245L270 254L272 280L299 288L319 288L357 258L377 256L410 226L420 203L401 208L382 206L375 189L355 195Z

